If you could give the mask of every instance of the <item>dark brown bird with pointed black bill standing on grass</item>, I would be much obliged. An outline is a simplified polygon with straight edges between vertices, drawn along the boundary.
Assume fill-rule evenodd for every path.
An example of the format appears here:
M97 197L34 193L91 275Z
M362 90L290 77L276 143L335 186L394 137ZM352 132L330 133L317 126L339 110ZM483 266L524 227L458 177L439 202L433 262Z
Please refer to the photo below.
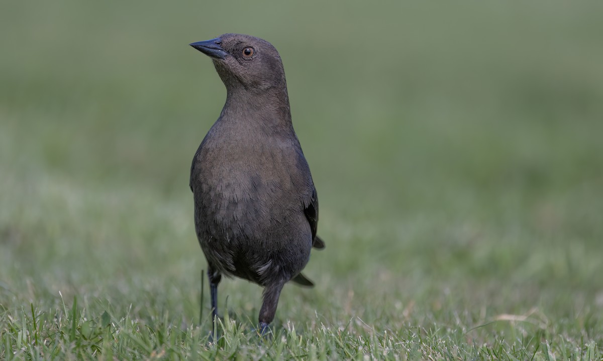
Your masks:
M218 283L236 276L264 287L259 329L274 319L280 291L300 271L316 235L318 198L291 123L285 70L265 40L223 34L191 46L208 55L226 103L191 165L195 229L207 259L213 322Z

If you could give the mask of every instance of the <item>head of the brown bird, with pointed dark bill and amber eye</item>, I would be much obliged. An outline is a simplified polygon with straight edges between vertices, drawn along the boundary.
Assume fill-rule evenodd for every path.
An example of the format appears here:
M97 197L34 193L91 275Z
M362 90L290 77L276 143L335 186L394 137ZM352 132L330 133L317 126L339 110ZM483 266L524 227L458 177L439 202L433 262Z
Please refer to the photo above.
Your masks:
M191 46L212 58L228 90L254 93L286 87L279 52L265 40L244 34L223 34Z

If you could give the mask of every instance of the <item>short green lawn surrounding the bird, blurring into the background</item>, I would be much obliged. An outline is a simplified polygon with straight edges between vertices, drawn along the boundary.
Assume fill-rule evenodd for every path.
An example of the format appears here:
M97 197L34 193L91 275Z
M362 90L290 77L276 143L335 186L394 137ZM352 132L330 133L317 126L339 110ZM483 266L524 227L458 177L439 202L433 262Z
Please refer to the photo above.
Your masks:
M0 359L603 359L601 2L0 5ZM192 155L224 102L188 46L272 42L326 241L219 288ZM205 285L207 287L207 285Z

